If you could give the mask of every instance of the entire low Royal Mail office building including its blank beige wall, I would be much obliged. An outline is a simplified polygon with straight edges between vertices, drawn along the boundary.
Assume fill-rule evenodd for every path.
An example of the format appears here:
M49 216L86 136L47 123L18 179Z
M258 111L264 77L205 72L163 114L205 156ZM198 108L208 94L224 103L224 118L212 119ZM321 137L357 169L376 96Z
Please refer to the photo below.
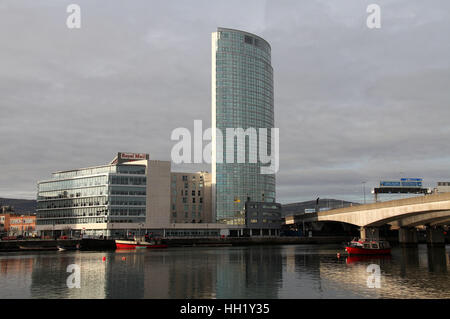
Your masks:
M53 173L38 182L43 234L122 236L169 224L170 162L118 153L107 165Z

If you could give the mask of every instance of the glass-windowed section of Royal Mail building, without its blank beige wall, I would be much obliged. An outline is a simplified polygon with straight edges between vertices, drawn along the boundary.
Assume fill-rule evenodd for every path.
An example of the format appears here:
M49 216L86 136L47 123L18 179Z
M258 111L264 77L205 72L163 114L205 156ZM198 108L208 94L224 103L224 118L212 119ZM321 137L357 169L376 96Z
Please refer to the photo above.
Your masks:
M147 165L121 160L121 154L109 165L56 172L38 182L37 228L98 230L106 236L108 224L145 223ZM139 163L147 162L143 156L147 159Z

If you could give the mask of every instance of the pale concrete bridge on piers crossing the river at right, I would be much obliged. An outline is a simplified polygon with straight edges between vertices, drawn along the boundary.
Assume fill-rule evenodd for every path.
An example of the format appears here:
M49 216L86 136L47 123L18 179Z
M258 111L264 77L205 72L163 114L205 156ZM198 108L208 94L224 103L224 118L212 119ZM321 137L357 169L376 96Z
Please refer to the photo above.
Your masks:
M286 224L334 221L360 226L361 238L378 239L378 227L399 230L399 242L417 244L416 226L427 226L427 242L445 242L443 225L450 224L450 193L425 195L388 202L357 205L318 213L286 216Z

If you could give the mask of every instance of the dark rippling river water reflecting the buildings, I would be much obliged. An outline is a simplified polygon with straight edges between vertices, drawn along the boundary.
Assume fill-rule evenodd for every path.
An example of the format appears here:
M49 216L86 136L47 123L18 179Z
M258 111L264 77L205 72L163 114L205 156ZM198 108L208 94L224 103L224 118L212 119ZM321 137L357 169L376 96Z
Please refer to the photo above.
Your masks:
M339 245L284 245L1 253L0 299L450 298L448 245L396 247L369 259L338 252ZM71 264L80 288L67 285Z

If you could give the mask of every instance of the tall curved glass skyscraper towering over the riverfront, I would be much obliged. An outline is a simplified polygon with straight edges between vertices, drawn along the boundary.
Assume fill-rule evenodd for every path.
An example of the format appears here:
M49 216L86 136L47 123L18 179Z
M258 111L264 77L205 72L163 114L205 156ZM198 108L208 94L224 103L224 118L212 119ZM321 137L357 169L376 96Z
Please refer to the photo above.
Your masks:
M267 154L271 154L270 130L274 127L273 69L271 48L264 39L244 31L218 28L212 34L212 187L213 209L219 223L245 223L247 200L275 202L275 175L261 174L256 149L250 134L245 146L230 147L227 129L267 129ZM219 129L223 134L215 134ZM237 138L236 138L237 140ZM259 141L259 138L258 138ZM219 143L218 143L219 142ZM223 151L221 152L221 149ZM245 151L245 162L239 162L239 151ZM234 152L235 161L227 155ZM257 156L256 162L251 158Z

